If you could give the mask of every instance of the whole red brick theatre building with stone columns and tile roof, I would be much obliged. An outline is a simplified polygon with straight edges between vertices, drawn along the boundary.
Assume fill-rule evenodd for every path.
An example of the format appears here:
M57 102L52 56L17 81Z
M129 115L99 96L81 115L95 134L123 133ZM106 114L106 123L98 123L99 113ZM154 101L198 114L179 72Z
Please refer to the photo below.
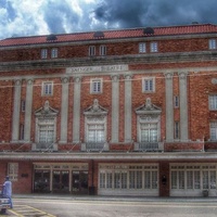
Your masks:
M217 26L0 41L0 182L14 193L216 196Z

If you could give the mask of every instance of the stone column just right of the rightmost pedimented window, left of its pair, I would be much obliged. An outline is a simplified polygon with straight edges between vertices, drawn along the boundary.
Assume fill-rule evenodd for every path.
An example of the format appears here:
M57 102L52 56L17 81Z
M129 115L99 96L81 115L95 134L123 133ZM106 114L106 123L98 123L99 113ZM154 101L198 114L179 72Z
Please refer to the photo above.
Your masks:
M174 92L173 73L165 74L166 82L166 141L174 140Z

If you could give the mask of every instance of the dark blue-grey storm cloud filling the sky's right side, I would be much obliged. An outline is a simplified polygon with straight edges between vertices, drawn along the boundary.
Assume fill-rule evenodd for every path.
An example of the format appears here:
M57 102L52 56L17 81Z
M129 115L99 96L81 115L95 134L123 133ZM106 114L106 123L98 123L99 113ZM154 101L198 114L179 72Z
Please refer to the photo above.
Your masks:
M216 0L102 0L94 10L107 27L217 23Z

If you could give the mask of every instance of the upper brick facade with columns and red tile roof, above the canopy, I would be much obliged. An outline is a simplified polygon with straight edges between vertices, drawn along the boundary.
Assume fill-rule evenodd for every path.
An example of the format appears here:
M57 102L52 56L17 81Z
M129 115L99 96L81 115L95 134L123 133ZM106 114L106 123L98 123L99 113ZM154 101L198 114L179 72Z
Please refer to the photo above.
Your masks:
M216 37L207 24L1 40L1 149L215 150Z

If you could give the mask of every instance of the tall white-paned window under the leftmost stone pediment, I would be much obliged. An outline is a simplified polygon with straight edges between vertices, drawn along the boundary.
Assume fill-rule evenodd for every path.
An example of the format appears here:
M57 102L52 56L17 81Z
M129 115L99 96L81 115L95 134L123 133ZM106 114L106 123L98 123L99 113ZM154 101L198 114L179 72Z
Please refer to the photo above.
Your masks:
M43 118L38 122L38 142L54 142L54 118Z

